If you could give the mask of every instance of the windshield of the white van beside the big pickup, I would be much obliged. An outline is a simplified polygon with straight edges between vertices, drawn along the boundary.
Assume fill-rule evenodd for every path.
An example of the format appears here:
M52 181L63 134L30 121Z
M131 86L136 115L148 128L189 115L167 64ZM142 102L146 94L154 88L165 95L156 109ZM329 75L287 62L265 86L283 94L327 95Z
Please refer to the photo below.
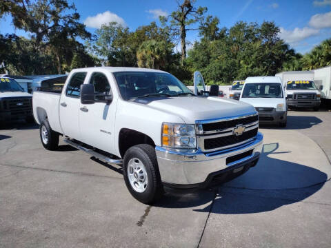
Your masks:
M280 83L248 83L242 98L283 98Z

